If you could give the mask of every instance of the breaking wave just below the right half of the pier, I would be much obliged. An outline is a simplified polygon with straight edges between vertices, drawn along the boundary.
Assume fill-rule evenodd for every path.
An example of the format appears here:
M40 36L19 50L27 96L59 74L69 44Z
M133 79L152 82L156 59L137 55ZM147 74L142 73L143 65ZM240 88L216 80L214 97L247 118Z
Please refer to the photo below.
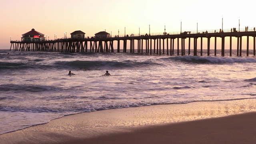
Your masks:
M183 62L194 63L256 63L255 58L242 57L212 57L212 56L172 56L169 58L160 58L161 60L179 60Z

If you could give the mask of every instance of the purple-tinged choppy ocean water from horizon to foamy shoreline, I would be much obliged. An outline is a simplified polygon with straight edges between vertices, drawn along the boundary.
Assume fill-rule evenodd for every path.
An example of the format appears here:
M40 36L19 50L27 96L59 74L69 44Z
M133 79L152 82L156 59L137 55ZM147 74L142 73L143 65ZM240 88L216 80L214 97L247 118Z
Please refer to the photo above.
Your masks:
M81 112L256 98L253 51L232 53L0 50L0 134Z

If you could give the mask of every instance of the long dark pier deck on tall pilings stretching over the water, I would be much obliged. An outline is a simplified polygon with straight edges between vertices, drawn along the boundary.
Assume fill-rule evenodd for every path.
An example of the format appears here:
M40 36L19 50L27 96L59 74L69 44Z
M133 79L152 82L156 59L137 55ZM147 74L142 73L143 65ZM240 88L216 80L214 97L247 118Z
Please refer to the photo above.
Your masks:
M83 39L58 39L46 40L40 42L17 42L10 41L10 50L14 51L47 51L47 52L114 52L114 41L117 41L117 52L120 52L120 41L123 43L122 52L127 52L127 42L130 42L130 53L148 54L167 54L173 55L174 51L177 55L185 55L185 40L188 40L188 55L190 55L191 44L193 39L194 56L198 56L198 38L201 40L200 56L202 56L203 38L207 38L207 56L210 56L210 38L214 38L214 56L216 56L217 38L221 38L221 56L224 56L225 38L230 37L230 56L232 56L232 37L237 38L237 56L242 56L242 37L247 37L247 56L249 55L249 37L253 38L253 55L255 56L255 31L247 32L203 32L191 33L182 32L180 34L164 34L164 35L138 35L138 36L123 36L123 37L108 37L108 38L83 38ZM174 50L176 39L177 49ZM135 48L135 40L137 48ZM145 41L145 42L143 42ZM181 41L181 42L180 42ZM154 44L152 45L152 42ZM162 44L161 44L162 42ZM166 42L166 44L164 44ZM181 43L181 47L179 44ZM145 44L145 50L143 47ZM164 47L166 46L166 48Z

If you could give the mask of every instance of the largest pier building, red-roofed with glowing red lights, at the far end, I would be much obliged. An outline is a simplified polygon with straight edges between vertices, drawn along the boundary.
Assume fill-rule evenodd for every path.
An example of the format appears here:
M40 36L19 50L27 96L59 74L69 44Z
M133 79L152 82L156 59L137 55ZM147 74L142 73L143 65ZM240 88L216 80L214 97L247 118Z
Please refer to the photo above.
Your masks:
M34 28L29 32L22 34L21 41L22 42L36 42L36 41L44 41L44 34L37 32Z

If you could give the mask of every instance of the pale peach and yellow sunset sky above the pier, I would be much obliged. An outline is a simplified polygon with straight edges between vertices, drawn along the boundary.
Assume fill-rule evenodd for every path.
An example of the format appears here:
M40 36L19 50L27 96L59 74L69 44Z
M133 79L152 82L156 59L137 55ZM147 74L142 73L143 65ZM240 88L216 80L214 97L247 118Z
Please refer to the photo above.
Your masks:
M81 30L85 37L256 27L256 1L231 0L1 0L0 49L32 28L49 39ZM246 38L243 38L246 40ZM250 41L252 38L249 39ZM234 48L236 42L234 42ZM229 43L229 42L226 42ZM245 43L245 42L243 42Z

